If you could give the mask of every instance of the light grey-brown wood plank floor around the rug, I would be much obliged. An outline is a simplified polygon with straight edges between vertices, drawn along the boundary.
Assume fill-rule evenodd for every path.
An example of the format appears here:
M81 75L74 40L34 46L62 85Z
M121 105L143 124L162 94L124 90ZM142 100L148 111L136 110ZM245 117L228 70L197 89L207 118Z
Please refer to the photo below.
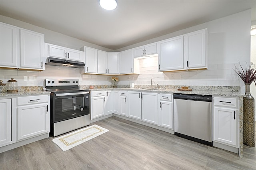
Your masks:
M244 158L117 117L92 123L109 131L63 152L49 137L0 154L0 170L255 170L256 149Z

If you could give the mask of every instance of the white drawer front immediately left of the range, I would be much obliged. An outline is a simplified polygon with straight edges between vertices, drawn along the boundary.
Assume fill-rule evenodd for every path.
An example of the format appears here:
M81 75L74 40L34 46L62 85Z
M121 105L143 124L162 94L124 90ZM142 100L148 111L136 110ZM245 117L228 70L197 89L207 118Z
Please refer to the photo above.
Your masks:
M49 96L27 96L27 97L18 97L17 105L27 105L27 104L36 104L36 103L45 103L48 102Z

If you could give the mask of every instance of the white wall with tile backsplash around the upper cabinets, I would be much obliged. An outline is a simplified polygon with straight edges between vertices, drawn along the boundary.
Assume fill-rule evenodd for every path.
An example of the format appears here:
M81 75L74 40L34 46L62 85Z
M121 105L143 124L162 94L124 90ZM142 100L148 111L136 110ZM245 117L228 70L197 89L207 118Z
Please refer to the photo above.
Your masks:
M208 70L162 73L157 71L157 57L152 57L149 59L140 60L140 75L118 76L120 78L118 84L128 84L134 82L135 84L139 85L149 85L152 78L153 84L159 85L240 86L242 87L243 91L244 83L239 81L239 78L234 72L233 68L234 65L237 65L239 61L243 66L246 64L246 62L250 63L250 12L250 10L246 10L244 12L233 14L231 16L213 20L198 26L170 33L147 42L138 43L120 49L130 49L132 47L137 47L147 43L157 42L196 30L208 28ZM44 28L39 28L12 18L1 16L1 22L34 30L36 32L42 32L45 34L46 42L48 43L56 42L56 45L65 44L62 46L74 46L74 49L79 49L84 45L88 45L87 42L82 42L81 40L52 32ZM96 46L97 45L91 45L91 47L97 48ZM98 47L98 49L102 49L102 47ZM102 50L108 51L106 49ZM42 85L43 79L46 77L77 77L80 79L81 85L112 83L110 76L80 75L79 69L54 66L46 66L45 71L38 73L14 70L0 71L1 79L4 79L4 82L9 80L11 77L16 76L14 79L16 78L19 86ZM180 74L184 74L184 79L180 79Z

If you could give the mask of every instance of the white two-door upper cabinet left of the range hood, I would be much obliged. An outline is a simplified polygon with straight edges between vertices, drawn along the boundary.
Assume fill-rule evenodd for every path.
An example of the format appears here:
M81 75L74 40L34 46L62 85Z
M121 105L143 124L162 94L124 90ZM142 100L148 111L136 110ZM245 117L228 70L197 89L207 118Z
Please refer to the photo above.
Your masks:
M0 25L0 66L44 70L44 34L4 23Z

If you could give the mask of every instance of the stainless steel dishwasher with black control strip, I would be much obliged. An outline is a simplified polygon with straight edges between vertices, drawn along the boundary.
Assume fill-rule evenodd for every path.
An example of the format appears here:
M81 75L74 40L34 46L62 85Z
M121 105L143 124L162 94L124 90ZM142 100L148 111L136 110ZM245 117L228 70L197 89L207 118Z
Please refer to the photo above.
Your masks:
M212 96L176 94L174 134L212 146Z

